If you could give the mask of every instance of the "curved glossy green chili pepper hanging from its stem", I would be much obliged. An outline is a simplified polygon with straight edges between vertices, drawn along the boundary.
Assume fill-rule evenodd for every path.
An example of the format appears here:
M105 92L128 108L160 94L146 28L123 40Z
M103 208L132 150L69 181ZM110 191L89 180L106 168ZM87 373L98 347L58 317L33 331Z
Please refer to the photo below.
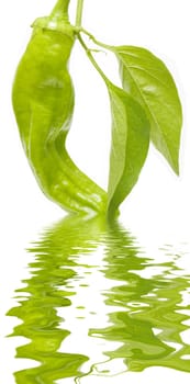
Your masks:
M83 174L66 150L74 112L68 59L75 42L69 0L59 0L33 24L32 38L13 83L21 140L43 192L69 212L103 212L107 193Z

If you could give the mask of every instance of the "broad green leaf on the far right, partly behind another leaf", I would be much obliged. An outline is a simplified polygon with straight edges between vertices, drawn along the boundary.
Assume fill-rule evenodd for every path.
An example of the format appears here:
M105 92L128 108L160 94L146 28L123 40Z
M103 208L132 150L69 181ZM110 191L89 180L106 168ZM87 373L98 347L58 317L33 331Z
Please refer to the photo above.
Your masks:
M120 61L123 88L145 109L152 140L178 174L182 111L170 72L147 49L120 46L112 50Z

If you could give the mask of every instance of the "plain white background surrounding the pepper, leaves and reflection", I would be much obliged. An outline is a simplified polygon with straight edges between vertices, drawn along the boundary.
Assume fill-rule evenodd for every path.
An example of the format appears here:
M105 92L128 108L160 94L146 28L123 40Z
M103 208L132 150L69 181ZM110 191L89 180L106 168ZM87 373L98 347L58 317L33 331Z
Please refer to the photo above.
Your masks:
M76 3L71 0L71 22ZM48 14L53 5L53 0L4 0L0 3L2 335L12 330L14 319L3 315L14 303L11 300L14 289L27 273L24 270L24 248L37 238L44 226L64 215L59 207L46 200L36 184L21 147L11 106L14 71L31 35L30 24L35 18ZM150 148L138 184L122 205L121 219L147 247L187 242L190 240L189 1L86 0L83 26L108 44L150 49L172 72L183 106L180 178L172 174L161 156ZM97 54L97 58L110 78L118 82L115 60L104 53ZM70 60L70 71L76 88L76 112L68 139L69 151L85 172L107 188L111 128L107 90L78 44ZM13 362L14 346L7 341L1 346L1 359L4 357L0 364L3 368L1 380L4 384L12 384L11 371L18 369ZM156 384L168 375L168 380L175 383L189 381L189 375L165 371L158 369L159 374L155 375L154 370L147 370L148 373L142 373L138 380ZM130 374L127 382L136 383L136 376Z

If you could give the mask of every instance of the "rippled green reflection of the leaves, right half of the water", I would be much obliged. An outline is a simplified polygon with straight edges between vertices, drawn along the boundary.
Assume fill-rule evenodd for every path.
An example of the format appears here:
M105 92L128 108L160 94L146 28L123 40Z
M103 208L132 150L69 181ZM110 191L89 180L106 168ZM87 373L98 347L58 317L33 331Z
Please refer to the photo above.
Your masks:
M105 304L114 306L109 314L112 325L90 329L89 335L121 341L120 348L105 353L123 359L130 371L159 365L190 372L190 345L181 334L189 329L185 321L190 312L183 312L190 305L182 305L182 293L188 292L190 275L182 273L172 256L158 263L138 255L118 223L107 236L105 255L105 278L123 283L105 294ZM154 276L148 278L150 268Z

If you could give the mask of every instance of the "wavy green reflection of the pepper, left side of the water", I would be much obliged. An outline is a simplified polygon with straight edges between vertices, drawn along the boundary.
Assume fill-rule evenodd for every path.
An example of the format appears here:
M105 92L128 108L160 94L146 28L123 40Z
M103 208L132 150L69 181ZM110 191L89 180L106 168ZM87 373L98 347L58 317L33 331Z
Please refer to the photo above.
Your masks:
M88 355L60 353L60 343L69 336L67 329L59 327L63 318L57 307L71 305L70 281L76 276L75 258L81 252L91 252L99 237L99 221L85 221L67 217L46 230L30 252L35 260L30 263L31 278L23 281L26 286L16 290L30 296L20 302L8 315L16 316L23 323L14 328L12 336L24 336L31 341L16 349L16 358L41 362L40 366L26 369L14 374L15 382L55 383L55 380L77 376Z

